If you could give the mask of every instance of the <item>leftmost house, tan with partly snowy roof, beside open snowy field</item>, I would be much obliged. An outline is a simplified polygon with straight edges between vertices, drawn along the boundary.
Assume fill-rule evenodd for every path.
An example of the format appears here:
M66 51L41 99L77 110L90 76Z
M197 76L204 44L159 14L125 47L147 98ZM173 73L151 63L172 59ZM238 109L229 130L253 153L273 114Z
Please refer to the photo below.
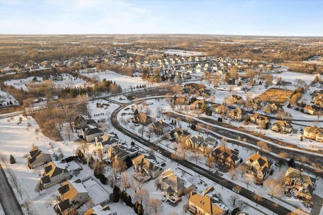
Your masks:
M51 162L51 157L48 150L45 147L35 146L29 151L28 167L33 169L40 165Z

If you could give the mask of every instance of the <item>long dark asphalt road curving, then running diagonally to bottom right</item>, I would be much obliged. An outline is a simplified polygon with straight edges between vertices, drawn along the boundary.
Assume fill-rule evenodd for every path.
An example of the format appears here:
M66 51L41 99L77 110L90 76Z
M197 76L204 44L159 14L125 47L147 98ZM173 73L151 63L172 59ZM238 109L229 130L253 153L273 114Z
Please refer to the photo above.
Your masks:
M116 109L111 115L111 123L116 129L118 129L122 133L126 134L127 136L131 137L132 139L144 144L147 147L152 147L154 150L160 150L163 153L163 155L165 155L166 157L174 160L175 162L183 165L184 167L186 167L188 169L194 170L196 173L198 173L198 174L212 180L213 182L216 182L216 183L218 183L218 184L220 184L220 185L222 185L222 186L224 186L224 187L226 187L226 188L228 188L230 190L234 186L236 186L235 183L233 183L233 182L231 182L231 181L229 181L227 179L221 178L220 176L215 175L215 174L213 174L213 173L211 173L211 172L209 172L209 171L207 171L207 170L205 170L205 169L203 169L203 168L201 168L201 167L199 167L199 166L197 166L197 165L195 165L193 163L190 163L187 160L172 158L172 153L171 152L169 152L166 149L161 148L161 147L159 147L157 145L152 144L150 141L147 141L147 140L141 138L140 136L137 136L133 132L130 132L130 131L124 129L118 123L117 115L125 107L125 105L126 104L120 104L120 107L118 109ZM246 198L248 198L248 199L250 199L250 200L253 199L253 197L252 197L253 192L251 192L248 189L242 188L242 190L240 191L239 194L246 197ZM269 210L273 210L273 208L275 208L275 205L274 205L275 202L273 202L273 201L271 201L269 199L266 199L266 198L262 198L261 201L258 202L258 204L260 204L261 206L263 206L263 207L265 207L265 208L267 208ZM278 213L278 214L285 215L285 214L287 214L287 213L289 213L291 211L289 209L279 205L279 206L276 207L275 212Z

